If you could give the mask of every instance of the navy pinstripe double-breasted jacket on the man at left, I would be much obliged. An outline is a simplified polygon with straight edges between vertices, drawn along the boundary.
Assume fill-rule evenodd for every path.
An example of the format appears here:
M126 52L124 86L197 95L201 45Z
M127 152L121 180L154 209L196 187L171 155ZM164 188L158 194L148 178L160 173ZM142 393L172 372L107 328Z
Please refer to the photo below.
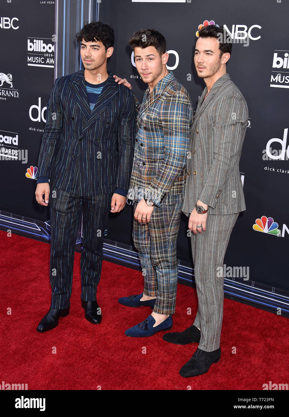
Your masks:
M55 80L47 103L37 177L79 196L128 190L135 144L133 93L109 77L93 110L84 68Z

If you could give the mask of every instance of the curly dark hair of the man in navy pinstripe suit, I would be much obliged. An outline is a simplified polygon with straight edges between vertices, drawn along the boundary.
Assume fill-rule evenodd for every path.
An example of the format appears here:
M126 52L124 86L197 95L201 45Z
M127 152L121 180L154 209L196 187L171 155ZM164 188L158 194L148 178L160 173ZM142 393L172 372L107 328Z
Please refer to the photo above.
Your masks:
M83 28L75 35L77 42L80 43L82 39L85 42L95 42L100 40L105 46L105 52L107 48L110 48L115 43L115 31L111 25L107 25L102 22L85 22Z

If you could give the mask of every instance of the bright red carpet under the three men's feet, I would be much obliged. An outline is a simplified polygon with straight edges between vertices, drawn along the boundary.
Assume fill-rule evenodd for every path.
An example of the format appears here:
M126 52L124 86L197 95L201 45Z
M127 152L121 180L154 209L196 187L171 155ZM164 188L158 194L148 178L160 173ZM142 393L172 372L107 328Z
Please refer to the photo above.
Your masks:
M102 323L93 325L80 305L80 254L75 254L70 314L43 334L36 332L50 306L50 245L0 231L1 380L28 389L258 389L288 383L288 319L224 300L221 360L199 377L183 378L179 369L197 344L172 345L164 332L135 339L125 329L145 319L149 307L129 308L120 296L142 291L142 274L103 262L97 301ZM178 286L172 331L192 324L196 290ZM12 314L7 314L8 308ZM192 315L187 315L191 307ZM56 347L56 353L52 353ZM146 353L142 353L146 348ZM232 354L236 347L236 354ZM2 360L3 362L3 360Z

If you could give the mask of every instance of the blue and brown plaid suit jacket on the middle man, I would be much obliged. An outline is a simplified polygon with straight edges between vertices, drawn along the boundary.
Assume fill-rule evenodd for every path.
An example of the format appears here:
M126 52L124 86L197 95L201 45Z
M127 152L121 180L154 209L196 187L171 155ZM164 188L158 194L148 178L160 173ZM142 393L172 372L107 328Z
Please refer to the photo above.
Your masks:
M156 206L183 198L187 176L192 103L187 90L169 71L142 104L137 103L135 155L127 198L149 198Z

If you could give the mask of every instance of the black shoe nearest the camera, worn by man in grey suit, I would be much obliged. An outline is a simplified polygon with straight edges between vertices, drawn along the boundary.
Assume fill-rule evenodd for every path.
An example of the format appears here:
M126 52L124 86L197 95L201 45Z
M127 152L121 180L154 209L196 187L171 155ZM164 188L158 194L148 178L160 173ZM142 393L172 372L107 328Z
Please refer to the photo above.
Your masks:
M191 359L184 364L179 374L182 377L196 377L205 374L213 363L219 362L221 358L221 349L206 352L197 348Z

